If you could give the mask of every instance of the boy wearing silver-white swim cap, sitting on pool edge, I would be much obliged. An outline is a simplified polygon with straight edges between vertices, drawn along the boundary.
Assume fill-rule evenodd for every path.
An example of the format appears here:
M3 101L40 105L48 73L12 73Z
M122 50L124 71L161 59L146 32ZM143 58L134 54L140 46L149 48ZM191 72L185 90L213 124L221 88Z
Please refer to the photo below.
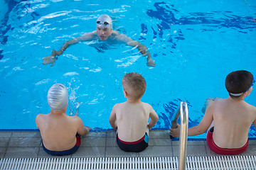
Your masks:
M54 84L48 91L50 113L38 114L36 126L41 132L43 150L54 156L75 153L81 137L90 129L84 127L78 116L65 113L68 107L68 89L63 84Z

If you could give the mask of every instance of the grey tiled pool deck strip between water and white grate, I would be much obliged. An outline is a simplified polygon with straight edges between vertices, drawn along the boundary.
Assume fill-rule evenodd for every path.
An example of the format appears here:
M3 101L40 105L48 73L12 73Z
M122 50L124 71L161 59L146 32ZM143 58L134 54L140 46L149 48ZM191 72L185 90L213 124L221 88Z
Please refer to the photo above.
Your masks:
M53 157L43 151L40 132L0 132L1 158ZM206 140L188 141L187 156L218 156L210 150ZM90 132L82 137L80 149L65 157L178 157L179 142L171 140L168 131L152 130L149 147L143 152L124 152L117 146L115 132ZM249 140L247 150L240 154L256 155L256 140Z

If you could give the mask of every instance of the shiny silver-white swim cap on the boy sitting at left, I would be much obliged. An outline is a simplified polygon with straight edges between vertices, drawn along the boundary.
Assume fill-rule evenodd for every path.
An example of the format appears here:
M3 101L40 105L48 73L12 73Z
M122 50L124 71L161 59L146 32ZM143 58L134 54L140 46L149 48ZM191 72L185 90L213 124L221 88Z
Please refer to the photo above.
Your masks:
M63 84L54 84L48 91L47 100L53 111L62 111L68 106L68 89Z

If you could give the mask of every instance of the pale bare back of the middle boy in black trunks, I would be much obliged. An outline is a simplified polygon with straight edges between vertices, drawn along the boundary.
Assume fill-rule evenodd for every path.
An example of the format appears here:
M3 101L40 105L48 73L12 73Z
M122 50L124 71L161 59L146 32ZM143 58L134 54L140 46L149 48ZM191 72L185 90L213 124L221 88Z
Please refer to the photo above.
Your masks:
M118 137L126 142L140 140L145 132L149 131L147 128L149 115L156 114L148 103L142 101L116 104L113 111L117 117Z

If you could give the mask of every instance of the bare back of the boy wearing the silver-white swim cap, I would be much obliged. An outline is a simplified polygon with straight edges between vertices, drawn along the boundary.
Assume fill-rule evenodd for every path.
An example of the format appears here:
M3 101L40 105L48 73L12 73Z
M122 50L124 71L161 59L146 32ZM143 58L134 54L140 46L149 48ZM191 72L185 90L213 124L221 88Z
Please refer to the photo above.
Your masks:
M65 113L55 115L39 114L36 125L41 132L43 145L52 151L63 151L75 146L76 133L78 132L77 116L68 116Z

